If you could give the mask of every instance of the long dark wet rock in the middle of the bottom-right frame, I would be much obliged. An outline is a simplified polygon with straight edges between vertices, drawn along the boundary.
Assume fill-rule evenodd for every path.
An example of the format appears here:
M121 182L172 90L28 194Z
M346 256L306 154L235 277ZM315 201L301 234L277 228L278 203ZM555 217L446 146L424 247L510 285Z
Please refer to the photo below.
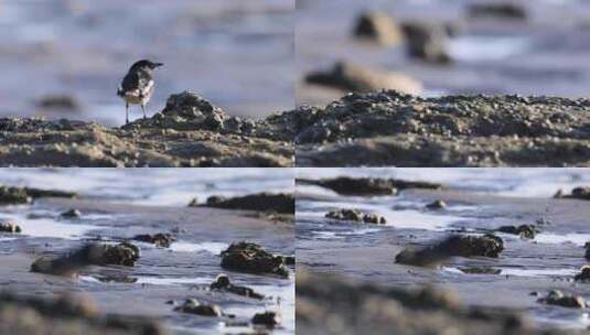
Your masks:
M504 241L494 235L461 236L453 235L435 245L406 248L396 256L397 263L431 267L437 266L450 257L492 257L497 258L504 250Z

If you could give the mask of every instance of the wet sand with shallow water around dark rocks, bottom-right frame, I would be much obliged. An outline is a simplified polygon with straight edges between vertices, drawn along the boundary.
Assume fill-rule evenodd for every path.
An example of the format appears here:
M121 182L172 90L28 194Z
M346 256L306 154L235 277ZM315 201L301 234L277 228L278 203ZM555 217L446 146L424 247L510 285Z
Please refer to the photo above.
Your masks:
M423 208L439 198L448 204L446 209ZM409 209L421 215L425 225L421 228L408 227L411 225L404 223L404 215L385 227L329 223L320 213L342 205L331 205L332 198L323 203L321 209L312 210L309 204L314 201L313 197L305 201L305 195L298 196L297 258L301 269L385 288L436 284L454 291L468 306L525 313L535 327L543 329L588 326L583 310L540 304L538 296L530 295L536 291L543 296L549 290L559 289L589 298L588 284L573 282L573 274L579 273L580 267L587 262L583 244L590 237L588 206L583 201L506 197L452 190L405 191L399 197L389 198L394 212ZM354 202L364 208L376 198L356 198ZM383 214L383 210L376 213ZM429 215L433 217L429 218ZM446 216L451 220L444 219ZM466 229L466 233L482 234L503 225L534 224L539 218L551 224L539 226L541 233L533 240L500 234L505 250L497 259L457 257L440 269L395 263L395 256L408 245L425 246L450 231ZM472 267L501 272L468 274L459 270Z

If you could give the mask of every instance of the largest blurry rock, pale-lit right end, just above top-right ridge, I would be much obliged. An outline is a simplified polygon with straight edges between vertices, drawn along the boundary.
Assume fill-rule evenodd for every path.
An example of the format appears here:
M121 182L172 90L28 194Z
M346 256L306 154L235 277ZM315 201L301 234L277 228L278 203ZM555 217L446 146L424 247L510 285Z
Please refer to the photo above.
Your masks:
M356 93L395 89L420 95L423 90L420 82L406 75L372 69L348 62L339 62L326 72L310 73L305 76L305 82Z

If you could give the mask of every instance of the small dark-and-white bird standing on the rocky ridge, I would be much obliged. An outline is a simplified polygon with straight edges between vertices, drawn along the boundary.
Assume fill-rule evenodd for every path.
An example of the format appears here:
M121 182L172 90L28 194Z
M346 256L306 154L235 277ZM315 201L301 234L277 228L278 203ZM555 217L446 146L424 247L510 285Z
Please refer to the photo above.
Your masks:
M162 65L164 64L141 60L133 63L129 68L117 89L117 95L125 100L125 125L129 123L129 104L141 105L143 118L147 118L146 105L150 101L155 86L152 72Z

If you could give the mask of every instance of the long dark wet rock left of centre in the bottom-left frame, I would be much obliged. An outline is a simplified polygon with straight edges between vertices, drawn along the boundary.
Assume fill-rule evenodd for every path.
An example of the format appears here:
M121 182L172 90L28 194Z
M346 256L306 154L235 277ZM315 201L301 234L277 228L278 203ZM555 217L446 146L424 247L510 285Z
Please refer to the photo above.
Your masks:
M90 244L57 257L40 257L31 264L31 272L76 278L88 266L133 267L140 249L129 242L119 245Z

